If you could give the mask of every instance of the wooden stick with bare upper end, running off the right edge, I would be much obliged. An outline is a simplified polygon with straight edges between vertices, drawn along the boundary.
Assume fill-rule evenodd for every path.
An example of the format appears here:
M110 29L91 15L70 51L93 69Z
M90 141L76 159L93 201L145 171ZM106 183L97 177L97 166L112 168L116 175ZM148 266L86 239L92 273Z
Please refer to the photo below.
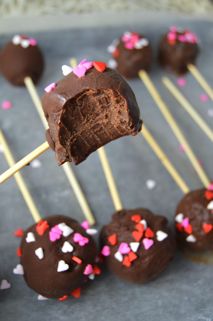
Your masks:
M213 142L213 131L207 125L207 123L201 118L193 106L185 99L184 95L177 89L177 87L167 77L162 78L163 84L166 86L168 91L176 98L177 101L183 106L187 113L194 119L202 131L209 137Z

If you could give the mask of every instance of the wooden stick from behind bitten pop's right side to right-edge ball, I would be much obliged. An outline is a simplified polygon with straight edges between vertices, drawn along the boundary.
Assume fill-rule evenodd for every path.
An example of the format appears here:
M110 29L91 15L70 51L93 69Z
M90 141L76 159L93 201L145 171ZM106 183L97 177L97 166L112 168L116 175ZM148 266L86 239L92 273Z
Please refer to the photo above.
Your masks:
M164 165L164 167L168 170L171 177L174 179L176 184L180 187L182 192L184 194L188 194L190 192L189 187L184 182L183 178L179 175L179 173L176 171L175 167L172 165L168 157L164 154L154 137L150 134L146 126L143 124L143 129L141 131L141 134L147 141L147 143L150 145L152 150L155 152L155 154L160 159L161 163Z

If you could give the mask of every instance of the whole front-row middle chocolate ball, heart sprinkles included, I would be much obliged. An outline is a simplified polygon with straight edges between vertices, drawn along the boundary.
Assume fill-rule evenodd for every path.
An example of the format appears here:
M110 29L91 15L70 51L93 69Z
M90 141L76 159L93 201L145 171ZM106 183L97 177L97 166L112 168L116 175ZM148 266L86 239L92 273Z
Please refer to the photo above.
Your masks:
M131 283L154 280L175 254L167 219L143 208L113 214L100 242L110 272Z

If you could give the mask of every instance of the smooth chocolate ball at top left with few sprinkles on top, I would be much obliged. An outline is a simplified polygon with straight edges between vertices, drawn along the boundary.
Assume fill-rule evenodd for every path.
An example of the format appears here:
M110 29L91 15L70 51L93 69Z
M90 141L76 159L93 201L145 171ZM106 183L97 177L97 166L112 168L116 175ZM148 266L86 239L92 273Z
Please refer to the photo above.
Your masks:
M43 56L33 38L15 35L0 52L0 70L15 86L23 86L26 76L36 83L43 69Z

